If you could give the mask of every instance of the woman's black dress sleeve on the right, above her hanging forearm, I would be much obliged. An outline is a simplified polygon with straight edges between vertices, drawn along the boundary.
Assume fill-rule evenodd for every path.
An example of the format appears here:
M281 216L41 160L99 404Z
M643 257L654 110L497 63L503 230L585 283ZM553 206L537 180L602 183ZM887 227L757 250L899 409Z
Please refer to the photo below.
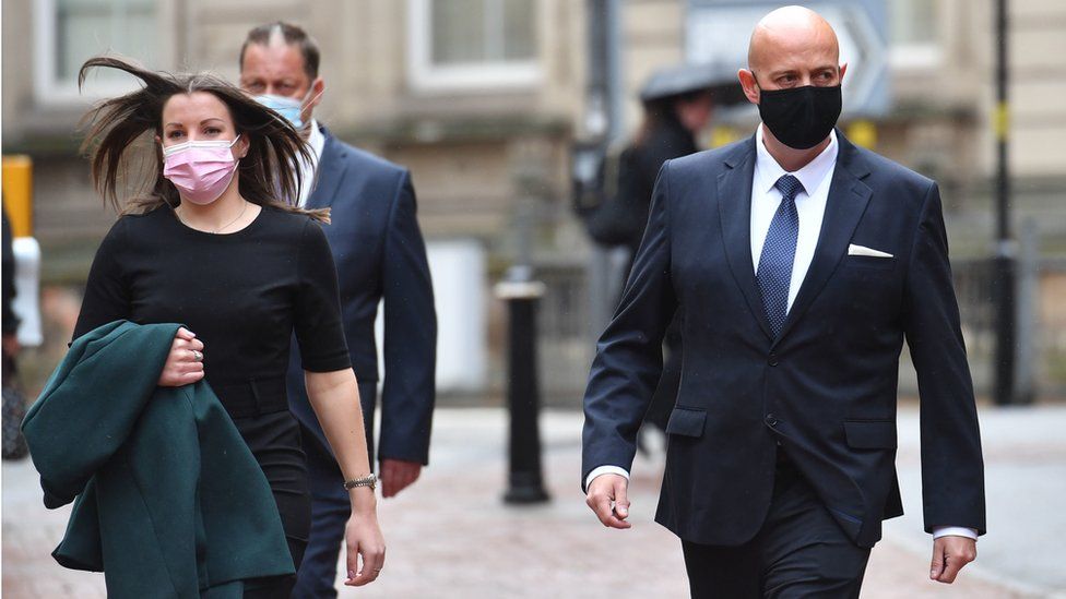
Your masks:
M333 252L318 223L309 220L305 225L297 262L299 289L294 322L304 370L332 372L351 368Z

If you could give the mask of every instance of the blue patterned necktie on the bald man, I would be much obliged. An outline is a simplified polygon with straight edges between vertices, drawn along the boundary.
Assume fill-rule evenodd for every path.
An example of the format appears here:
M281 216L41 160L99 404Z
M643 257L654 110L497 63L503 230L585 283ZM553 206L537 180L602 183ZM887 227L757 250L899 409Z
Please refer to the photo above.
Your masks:
M777 338L789 315L789 286L792 283L792 263L796 257L796 240L800 238L796 194L803 191L803 183L792 175L782 175L773 187L781 192L781 205L770 221L756 278L770 330Z

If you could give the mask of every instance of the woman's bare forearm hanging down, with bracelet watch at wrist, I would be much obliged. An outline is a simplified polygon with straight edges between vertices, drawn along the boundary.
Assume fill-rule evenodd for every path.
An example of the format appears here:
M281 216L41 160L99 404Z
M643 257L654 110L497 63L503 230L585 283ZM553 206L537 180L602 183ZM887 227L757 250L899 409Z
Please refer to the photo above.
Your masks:
M307 397L322 424L325 439L341 467L344 480L362 478L371 472L367 455L366 429L359 405L359 386L352 369L333 372L304 373ZM374 491L356 487L348 491L355 512L372 511Z

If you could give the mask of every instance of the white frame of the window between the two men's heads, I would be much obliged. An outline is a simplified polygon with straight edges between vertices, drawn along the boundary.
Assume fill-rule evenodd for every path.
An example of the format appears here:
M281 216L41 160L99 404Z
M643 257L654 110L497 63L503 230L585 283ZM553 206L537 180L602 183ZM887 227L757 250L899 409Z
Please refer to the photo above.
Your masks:
M516 89L533 87L542 79L538 44L528 60L496 60L439 65L433 62L434 0L407 0L407 75L419 92ZM536 7L536 3L534 4ZM533 24L536 27L536 24ZM534 40L538 36L534 32Z

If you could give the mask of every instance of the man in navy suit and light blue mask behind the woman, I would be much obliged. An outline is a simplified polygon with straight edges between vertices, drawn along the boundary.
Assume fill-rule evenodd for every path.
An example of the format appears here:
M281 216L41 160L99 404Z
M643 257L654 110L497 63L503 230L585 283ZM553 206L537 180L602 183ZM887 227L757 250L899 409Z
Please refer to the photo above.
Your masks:
M313 158L301 165L299 205L332 208L332 224L324 230L336 262L344 332L359 380L371 464L378 382L374 322L378 304L384 301L378 472L382 494L391 498L418 478L429 456L437 339L429 267L410 173L345 144L315 120L312 112L325 89L318 68L315 40L287 23L253 28L240 49L240 86L292 122L310 145ZM348 492L307 402L299 352L292 356L289 405L303 424L313 495L311 538L293 597L336 597Z

